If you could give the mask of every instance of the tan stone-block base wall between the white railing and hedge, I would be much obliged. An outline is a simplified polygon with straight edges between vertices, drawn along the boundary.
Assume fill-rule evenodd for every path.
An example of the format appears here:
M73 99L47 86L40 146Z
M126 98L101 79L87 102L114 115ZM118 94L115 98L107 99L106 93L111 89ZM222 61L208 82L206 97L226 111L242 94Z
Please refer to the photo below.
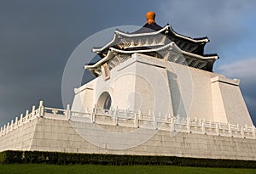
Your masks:
M132 132L134 128L125 126L97 125L86 122L61 121L37 117L35 120L20 126L13 132L2 136L1 151L6 149L58 151L70 153L91 154L141 154L165 155L212 159L256 160L256 141L248 138L234 138L169 131L156 131L154 135L143 143L128 149L109 149L89 143L86 138L79 135L74 125L90 132L90 138L106 139L108 134L97 134L97 127L111 132ZM19 134L18 132L22 132ZM150 132L150 131L148 131ZM145 132L144 132L145 133ZM152 133L152 132L150 132ZM127 141L136 141L143 138L138 133L136 137ZM89 140L90 138L87 137ZM22 139L22 141L20 141ZM124 144L121 139L113 138L112 141ZM4 143L3 143L4 142ZM26 144L21 146L21 144ZM24 143L25 142L25 143Z

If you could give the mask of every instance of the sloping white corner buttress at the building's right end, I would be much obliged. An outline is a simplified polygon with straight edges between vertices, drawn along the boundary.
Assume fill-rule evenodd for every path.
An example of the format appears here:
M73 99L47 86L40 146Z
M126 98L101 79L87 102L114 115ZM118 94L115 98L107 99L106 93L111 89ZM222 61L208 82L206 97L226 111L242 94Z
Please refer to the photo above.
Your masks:
M238 80L216 76L212 81L213 121L253 125L242 98Z

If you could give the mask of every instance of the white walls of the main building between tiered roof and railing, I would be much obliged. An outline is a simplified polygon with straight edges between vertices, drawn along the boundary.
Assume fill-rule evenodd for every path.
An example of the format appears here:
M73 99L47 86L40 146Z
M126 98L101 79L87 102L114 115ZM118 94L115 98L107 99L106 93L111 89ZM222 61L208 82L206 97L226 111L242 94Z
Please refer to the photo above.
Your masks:
M135 53L77 88L73 110L92 109L108 92L112 108L252 126L239 83L222 75Z

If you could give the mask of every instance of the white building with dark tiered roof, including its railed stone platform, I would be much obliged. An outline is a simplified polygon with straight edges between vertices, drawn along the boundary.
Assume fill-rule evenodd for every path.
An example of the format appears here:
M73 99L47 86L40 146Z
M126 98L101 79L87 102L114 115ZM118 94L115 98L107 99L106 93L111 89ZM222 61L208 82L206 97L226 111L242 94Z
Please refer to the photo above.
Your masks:
M84 65L96 76L72 107L38 109L0 132L0 151L169 155L256 160L255 127L239 80L212 72L207 37L190 38L146 14L143 28L115 31Z

